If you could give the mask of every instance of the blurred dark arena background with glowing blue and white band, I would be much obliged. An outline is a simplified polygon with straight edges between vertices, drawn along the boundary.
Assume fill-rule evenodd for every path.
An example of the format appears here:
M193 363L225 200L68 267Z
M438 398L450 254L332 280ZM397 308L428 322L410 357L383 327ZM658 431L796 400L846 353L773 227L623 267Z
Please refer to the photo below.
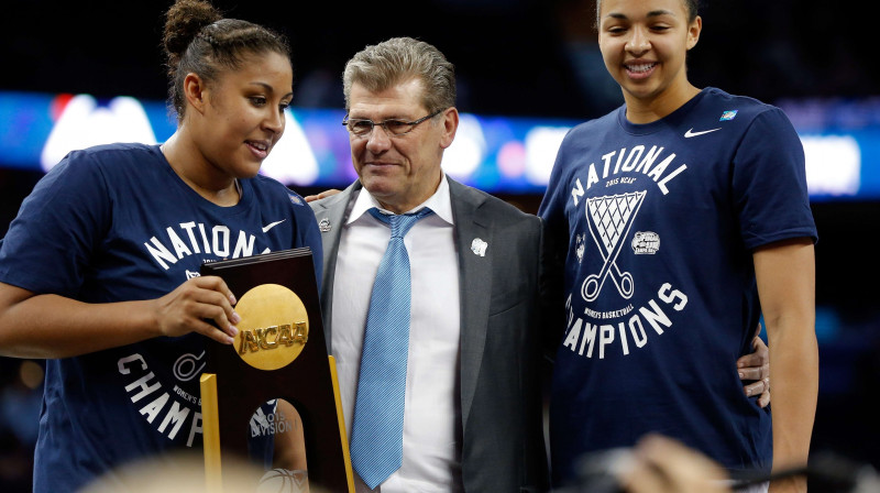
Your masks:
M160 46L169 3L33 0L0 9L0 235L70 149L170 134ZM466 127L448 171L529 212L564 130L623 100L595 44L590 0L215 4L290 39L294 108L286 147L273 153L283 165L267 172L302 195L351 182L340 75L355 52L392 36L435 44L457 67ZM880 69L869 24L880 4L703 0L701 14L691 80L781 107L806 149L820 232L813 450L880 467L871 398L880 386ZM41 385L41 361L0 358L4 492L30 491Z

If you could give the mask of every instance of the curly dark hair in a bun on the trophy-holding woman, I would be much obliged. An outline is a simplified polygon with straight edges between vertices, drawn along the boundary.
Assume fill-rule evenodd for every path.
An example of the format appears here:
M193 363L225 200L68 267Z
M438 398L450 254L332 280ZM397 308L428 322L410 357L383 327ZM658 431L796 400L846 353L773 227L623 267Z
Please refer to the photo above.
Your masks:
M248 21L224 19L205 0L177 0L166 13L162 42L167 55L168 102L178 121L186 111L187 74L211 84L221 72L238 69L249 54L274 52L290 58L285 36Z

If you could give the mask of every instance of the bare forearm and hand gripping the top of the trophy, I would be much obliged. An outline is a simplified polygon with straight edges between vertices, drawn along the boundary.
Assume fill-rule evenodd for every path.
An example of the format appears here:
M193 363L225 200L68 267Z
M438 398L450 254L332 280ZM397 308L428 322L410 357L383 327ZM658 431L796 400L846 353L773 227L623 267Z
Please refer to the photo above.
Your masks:
M235 298L220 277L188 280L142 302L88 304L0 283L0 355L68 358L158 336L199 332L223 343L237 333ZM212 319L218 330L206 319Z

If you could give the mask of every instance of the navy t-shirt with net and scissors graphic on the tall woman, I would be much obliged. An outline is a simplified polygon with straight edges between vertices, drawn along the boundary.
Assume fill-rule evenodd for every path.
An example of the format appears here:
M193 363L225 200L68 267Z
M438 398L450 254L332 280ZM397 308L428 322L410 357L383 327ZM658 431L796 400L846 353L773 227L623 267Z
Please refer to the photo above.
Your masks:
M736 369L760 317L752 252L816 238L784 113L715 88L648 124L622 107L565 136L539 215L565 259L554 481L649 431L729 469L768 467L769 410Z

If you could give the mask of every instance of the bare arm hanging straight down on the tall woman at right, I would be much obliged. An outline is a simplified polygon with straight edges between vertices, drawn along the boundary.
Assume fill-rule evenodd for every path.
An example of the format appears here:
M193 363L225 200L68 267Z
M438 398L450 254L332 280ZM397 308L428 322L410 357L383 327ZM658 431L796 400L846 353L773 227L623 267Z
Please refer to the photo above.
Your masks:
M755 252L755 273L770 347L773 382L773 470L804 465L816 414L813 242L798 239ZM772 492L806 491L803 478L774 482Z

